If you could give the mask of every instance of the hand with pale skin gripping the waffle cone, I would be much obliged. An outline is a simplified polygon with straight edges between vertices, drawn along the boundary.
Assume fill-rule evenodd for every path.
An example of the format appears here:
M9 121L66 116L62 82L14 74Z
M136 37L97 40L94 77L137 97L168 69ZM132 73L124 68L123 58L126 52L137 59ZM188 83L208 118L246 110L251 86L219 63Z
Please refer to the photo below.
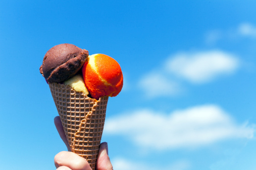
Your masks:
M89 163L85 158L79 156L76 153L70 152L70 147L68 140L66 138L65 132L63 130L63 126L61 124L60 117L57 116L54 119L55 126L63 140L66 144L68 151L61 151L58 153L55 158L55 166L58 170L89 170L91 169ZM96 169L98 170L113 170L113 166L110 162L110 157L108 155L108 144L107 142L103 142L99 145L98 158L96 162Z

